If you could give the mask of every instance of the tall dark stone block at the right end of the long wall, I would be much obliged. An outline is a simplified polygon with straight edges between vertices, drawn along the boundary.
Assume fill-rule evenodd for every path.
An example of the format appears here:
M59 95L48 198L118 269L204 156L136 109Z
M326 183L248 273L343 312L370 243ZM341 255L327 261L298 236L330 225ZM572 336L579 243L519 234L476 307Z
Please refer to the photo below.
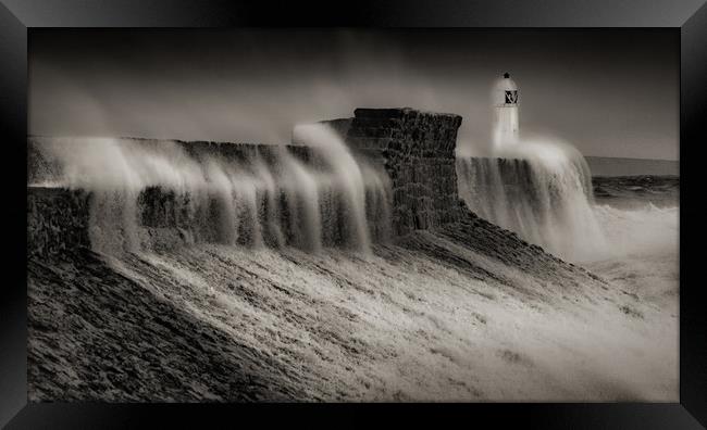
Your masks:
M462 219L467 208L455 167L461 116L410 108L357 109L350 123L324 123L355 151L384 166L393 187L397 235Z

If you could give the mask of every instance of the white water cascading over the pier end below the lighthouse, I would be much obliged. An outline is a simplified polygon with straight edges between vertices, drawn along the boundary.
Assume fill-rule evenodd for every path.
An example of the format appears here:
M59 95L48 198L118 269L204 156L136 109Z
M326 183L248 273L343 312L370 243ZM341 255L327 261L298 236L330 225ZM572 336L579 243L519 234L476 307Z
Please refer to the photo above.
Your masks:
M591 173L575 149L523 140L492 157L460 157L457 170L460 195L480 216L570 261L606 251Z

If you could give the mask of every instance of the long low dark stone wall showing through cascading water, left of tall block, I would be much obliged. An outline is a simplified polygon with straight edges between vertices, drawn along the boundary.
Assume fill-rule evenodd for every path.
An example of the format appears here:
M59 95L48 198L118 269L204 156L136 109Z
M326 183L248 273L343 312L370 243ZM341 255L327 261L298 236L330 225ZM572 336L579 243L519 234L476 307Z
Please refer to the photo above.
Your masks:
M164 147L181 147L183 153L196 163L208 163L219 159L227 163L252 164L257 159L264 165L276 164L282 152L302 163L315 163L317 156L307 147L268 146L257 143L226 143L210 141L157 140L119 138L116 144L137 144L152 148L159 152ZM61 256L66 252L85 246L97 249L97 240L111 237L111 242L122 242L121 237L133 227L137 244L173 244L175 241L203 240L222 242L224 240L240 244L264 242L277 245L294 243L299 236L300 223L294 218L292 204L285 193L266 199L262 194L249 195L253 207L239 207L239 212L228 212L223 199L207 193L198 195L189 191L175 193L161 187L146 187L131 201L129 190L69 189L62 184L65 175L75 175L80 182L80 173L65 172L58 151L72 150L70 139L29 137L27 139L27 255ZM88 144L90 144L89 142ZM89 152L86 142L76 144L76 151ZM96 142L95 144L102 144ZM149 151L148 151L149 153ZM178 153L178 152L172 152ZM85 155L85 154L84 154ZM87 156L89 159L89 156ZM86 161L90 163L90 159ZM115 160L120 164L122 160ZM76 166L72 166L75 169ZM247 188L247 185L245 185ZM326 202L328 211L336 211L336 201ZM333 206L333 207L330 207ZM250 211L250 213L248 212ZM253 231L253 223L248 217L259 214L274 214L278 217L276 226L259 226ZM225 219L237 215L239 219ZM92 216L92 217L91 217ZM274 215L273 215L274 216ZM339 223L340 224L340 223ZM230 227L235 226L235 227ZM225 233L226 230L233 231ZM332 226L323 238L328 242L339 240L339 225ZM114 230L114 231L110 231ZM122 244L121 244L122 245Z

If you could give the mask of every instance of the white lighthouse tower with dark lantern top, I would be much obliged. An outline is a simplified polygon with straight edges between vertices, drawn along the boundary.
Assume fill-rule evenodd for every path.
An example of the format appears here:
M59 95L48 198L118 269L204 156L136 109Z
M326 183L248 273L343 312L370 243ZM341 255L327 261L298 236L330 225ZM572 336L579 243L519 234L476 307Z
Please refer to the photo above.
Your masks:
M494 149L513 147L518 143L518 86L508 72L496 83L493 102L496 111Z

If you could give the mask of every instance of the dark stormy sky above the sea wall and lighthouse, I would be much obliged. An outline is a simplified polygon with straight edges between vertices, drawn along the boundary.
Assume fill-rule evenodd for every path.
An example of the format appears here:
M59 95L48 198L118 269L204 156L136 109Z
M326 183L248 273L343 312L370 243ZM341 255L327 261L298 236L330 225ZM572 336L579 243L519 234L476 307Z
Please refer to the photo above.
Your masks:
M358 106L463 116L484 149L510 72L522 136L585 155L678 159L679 33L668 29L42 29L29 132L288 142Z

